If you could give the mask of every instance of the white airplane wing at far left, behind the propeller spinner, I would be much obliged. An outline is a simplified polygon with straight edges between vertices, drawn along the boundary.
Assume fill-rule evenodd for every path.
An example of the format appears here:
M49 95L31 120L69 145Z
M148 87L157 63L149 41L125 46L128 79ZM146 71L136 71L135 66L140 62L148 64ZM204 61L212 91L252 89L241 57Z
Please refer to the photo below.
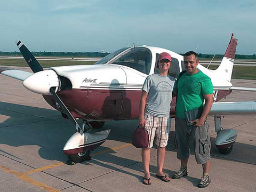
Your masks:
M33 74L27 71L7 67L0 68L0 73L15 79L19 79L21 81L24 81L28 76Z

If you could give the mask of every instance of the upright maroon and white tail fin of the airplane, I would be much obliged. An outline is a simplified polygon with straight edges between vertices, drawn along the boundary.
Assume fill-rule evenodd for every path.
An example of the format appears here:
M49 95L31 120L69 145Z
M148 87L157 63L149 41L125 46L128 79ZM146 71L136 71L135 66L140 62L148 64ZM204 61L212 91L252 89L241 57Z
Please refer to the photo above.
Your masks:
M220 63L220 66L214 70L214 73L217 73L218 76L225 78L228 82L231 81L231 75L234 66L234 59L236 54L237 39L234 37L234 34L231 35L231 39L226 50L226 53Z

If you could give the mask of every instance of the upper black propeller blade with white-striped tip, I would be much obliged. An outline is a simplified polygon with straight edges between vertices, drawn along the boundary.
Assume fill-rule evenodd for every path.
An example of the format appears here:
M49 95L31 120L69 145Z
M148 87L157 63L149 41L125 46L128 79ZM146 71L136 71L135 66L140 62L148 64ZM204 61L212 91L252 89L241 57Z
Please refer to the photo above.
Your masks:
M28 50L28 48L21 41L17 41L16 44L21 54L23 55L23 58L26 60L29 67L34 73L44 70L39 64L39 62L36 60L34 55Z

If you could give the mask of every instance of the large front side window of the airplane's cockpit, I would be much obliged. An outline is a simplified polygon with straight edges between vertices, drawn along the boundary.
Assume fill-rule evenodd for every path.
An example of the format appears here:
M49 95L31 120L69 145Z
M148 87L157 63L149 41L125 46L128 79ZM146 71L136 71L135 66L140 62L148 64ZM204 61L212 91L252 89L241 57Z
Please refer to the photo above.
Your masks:
M135 47L127 50L110 63L127 66L144 74L149 74L152 62L151 52L146 47Z

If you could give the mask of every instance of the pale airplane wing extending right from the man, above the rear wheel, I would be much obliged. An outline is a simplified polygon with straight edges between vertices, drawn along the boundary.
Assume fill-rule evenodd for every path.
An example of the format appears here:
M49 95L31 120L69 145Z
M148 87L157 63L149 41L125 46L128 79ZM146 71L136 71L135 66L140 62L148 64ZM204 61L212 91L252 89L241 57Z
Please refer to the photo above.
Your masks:
M256 114L256 101L216 102L209 115L247 115Z

